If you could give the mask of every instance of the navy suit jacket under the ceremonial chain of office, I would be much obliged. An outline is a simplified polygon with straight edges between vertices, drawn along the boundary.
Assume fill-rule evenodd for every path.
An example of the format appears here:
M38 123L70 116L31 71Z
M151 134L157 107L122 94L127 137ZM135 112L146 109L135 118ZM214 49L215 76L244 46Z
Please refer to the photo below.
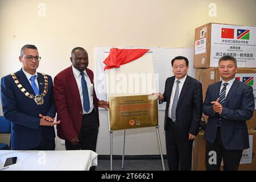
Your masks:
M30 82L27 80L22 69L15 73L20 84L27 92L35 95ZM48 115L54 118L56 111L53 100L53 84L51 76L48 76L48 92L43 97L44 104L37 105L35 101L24 95L16 86L11 75L1 80L1 99L3 115L11 121L11 146L13 150L28 150L39 146L42 135L48 139L55 139L53 126L39 126L39 114ZM39 93L44 90L44 77L38 73Z

